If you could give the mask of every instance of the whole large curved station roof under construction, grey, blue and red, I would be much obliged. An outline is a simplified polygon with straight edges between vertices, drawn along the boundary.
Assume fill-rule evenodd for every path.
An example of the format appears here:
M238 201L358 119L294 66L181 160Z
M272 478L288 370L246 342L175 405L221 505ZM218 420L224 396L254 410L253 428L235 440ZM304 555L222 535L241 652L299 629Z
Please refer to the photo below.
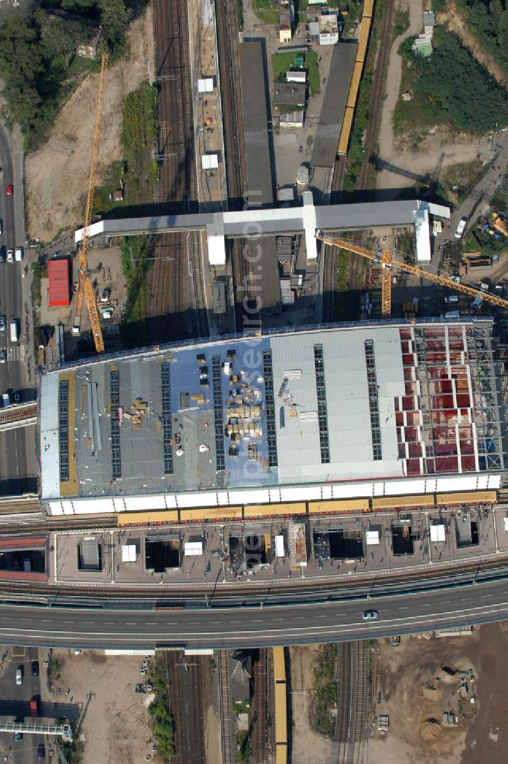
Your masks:
M160 346L40 377L50 513L500 485L490 319Z

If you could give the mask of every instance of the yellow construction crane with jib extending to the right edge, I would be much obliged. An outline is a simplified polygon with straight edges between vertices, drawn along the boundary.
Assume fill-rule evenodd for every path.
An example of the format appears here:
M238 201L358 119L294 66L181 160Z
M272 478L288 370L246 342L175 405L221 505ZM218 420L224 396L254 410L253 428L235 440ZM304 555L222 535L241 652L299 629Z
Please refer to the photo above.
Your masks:
M370 251L370 249L359 247L358 244L353 244L352 241L347 241L346 239L322 236L320 234L318 234L316 238L318 238L319 241L324 241L325 244L329 244L331 247L338 247L348 250L349 252L354 252L355 254L361 254L361 257L367 257L368 260L380 264L382 276L381 306L383 316L390 316L390 313L392 312L392 275L393 273L396 273L397 270L404 270L408 274L415 274L415 276L420 276L429 281L433 281L436 284L441 284L441 286L449 286L450 289L470 294L473 297L481 297L481 299L484 299L487 303L493 303L493 305L508 309L508 300L501 299L501 297L484 292L483 290L475 289L474 286L467 286L466 284L459 283L458 281L454 281L445 276L438 276L437 274L430 273L428 270L423 270L414 265L408 265L400 260L395 260L388 248L384 248L379 252L373 252Z

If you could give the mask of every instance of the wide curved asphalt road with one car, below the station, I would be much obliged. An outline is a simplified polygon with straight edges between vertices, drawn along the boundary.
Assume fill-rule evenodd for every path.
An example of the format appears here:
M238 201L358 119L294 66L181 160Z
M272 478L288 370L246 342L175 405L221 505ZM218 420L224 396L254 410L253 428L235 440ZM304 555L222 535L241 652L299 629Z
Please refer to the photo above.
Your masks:
M364 622L364 610L379 618ZM153 649L257 647L390 636L508 619L508 578L354 601L209 610L95 610L2 604L0 643Z

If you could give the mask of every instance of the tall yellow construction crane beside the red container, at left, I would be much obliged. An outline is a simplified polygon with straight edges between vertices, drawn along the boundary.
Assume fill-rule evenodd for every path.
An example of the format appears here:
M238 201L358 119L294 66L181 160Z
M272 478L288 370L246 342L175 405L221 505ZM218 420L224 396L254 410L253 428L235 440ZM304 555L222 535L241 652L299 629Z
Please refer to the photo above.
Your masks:
M99 97L95 111L95 128L92 140L92 160L90 161L90 176L88 184L88 196L86 197L85 220L83 222L83 240L79 247L79 281L76 294L76 313L74 316L73 334L79 334L81 327L81 312L83 311L83 293L86 296L86 306L92 325L95 350L104 352L104 340L102 338L99 312L95 303L92 280L88 270L88 251L90 247L90 223L92 222L93 196L95 193L95 170L97 169L97 157L99 155L99 138L101 136L102 105L104 103L104 88L106 69L108 68L108 53L102 53L101 74L99 78Z

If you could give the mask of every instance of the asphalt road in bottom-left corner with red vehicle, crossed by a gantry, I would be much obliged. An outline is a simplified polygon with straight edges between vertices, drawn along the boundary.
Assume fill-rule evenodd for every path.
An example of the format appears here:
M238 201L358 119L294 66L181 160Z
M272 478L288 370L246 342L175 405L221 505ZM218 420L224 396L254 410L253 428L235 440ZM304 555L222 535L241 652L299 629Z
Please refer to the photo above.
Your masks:
M22 650L18 650L22 653ZM40 697L40 675L31 674L31 663L38 660L38 650L28 648L24 656L13 657L5 663L0 681L0 718L2 720L30 721L30 701L34 696ZM22 685L16 685L16 669L22 665L24 678ZM0 733L0 751L9 753L11 764L32 764L37 762L37 746L44 743L44 736L26 735L23 740L14 740L12 733Z

